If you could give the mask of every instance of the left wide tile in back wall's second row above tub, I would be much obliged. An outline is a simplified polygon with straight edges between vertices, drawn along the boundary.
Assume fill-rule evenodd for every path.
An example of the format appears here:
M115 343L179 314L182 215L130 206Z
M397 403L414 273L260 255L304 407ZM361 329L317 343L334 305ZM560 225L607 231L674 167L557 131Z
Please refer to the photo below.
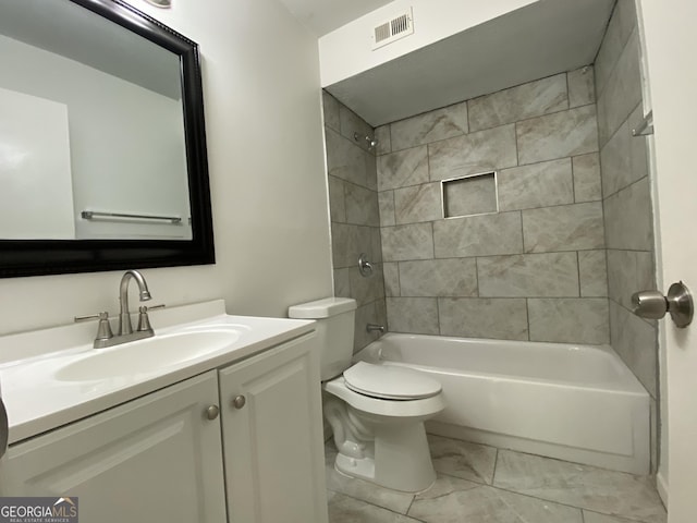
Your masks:
M476 296L475 258L400 263L402 296Z

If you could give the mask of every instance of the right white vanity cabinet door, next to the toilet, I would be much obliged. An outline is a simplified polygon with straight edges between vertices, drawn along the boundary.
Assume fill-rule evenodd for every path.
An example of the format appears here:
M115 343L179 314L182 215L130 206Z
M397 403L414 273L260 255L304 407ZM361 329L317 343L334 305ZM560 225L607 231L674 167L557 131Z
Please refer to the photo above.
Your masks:
M315 333L220 370L230 523L327 523Z

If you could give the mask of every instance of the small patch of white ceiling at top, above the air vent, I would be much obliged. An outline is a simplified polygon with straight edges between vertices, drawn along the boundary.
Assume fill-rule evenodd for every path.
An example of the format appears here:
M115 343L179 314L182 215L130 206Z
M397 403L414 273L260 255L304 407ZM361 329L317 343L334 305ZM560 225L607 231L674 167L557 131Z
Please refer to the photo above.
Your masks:
M368 14L392 0L280 0L318 37Z

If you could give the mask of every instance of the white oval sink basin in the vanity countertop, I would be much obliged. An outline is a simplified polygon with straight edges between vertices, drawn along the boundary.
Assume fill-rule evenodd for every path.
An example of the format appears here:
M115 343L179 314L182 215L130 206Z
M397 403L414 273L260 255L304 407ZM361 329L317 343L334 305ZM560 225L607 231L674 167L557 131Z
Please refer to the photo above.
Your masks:
M88 356L60 367L59 381L91 381L157 372L220 351L240 339L237 329L188 330L158 335L109 349L95 349Z

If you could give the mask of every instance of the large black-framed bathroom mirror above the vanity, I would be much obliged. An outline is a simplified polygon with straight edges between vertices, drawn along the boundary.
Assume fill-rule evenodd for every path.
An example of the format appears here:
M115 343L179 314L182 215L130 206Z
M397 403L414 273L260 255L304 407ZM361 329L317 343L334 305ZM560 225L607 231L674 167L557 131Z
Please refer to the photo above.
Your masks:
M0 277L215 262L198 47L122 0L0 0Z

